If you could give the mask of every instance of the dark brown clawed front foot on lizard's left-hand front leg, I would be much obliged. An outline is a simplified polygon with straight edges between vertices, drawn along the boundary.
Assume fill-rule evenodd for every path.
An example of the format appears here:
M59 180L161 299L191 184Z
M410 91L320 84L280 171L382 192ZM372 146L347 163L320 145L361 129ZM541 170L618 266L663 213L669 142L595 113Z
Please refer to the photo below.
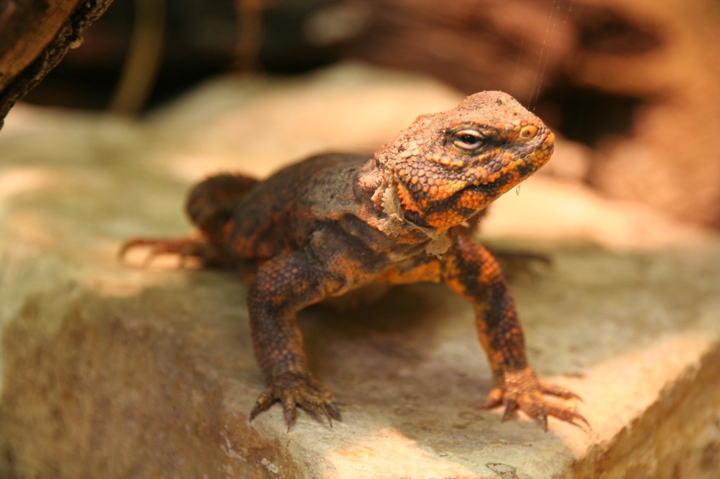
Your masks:
M282 373L273 378L270 386L258 397L250 411L250 420L278 401L282 403L288 432L295 420L296 406L314 416L325 416L330 427L333 426L333 419L342 421L333 395L307 374Z

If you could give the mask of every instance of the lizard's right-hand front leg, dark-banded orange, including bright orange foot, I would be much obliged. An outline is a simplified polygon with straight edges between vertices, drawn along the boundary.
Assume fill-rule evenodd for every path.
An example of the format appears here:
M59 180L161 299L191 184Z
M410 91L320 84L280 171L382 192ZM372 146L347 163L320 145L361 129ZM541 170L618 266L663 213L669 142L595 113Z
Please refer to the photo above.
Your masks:
M523 330L513 296L498 263L490 252L456 234L453 246L443 257L442 274L447 285L472 303L477 334L492 369L492 390L485 408L505 405L503 420L515 409L539 421L547 429L547 416L576 424L588 424L567 403L548 401L544 395L563 400L578 398L575 393L538 378L528 366Z

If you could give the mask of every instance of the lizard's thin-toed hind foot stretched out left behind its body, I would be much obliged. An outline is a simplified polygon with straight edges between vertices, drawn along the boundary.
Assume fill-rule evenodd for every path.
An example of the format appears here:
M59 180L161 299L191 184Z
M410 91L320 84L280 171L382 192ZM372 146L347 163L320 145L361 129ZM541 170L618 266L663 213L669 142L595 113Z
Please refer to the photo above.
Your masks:
M148 267L153 260L161 255L177 255L180 268L185 268L190 258L197 260L200 267L213 263L212 252L206 242L194 238L135 238L125 242L117 256L125 260L127 252L138 247L148 248L143 266Z

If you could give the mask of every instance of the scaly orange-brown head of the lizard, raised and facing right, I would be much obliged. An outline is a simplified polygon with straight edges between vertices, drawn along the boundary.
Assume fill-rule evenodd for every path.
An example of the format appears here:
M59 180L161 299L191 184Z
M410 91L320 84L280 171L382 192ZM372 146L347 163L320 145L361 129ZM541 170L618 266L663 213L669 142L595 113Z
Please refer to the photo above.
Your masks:
M554 135L512 96L484 91L418 117L375 154L405 219L444 230L485 209L544 165Z

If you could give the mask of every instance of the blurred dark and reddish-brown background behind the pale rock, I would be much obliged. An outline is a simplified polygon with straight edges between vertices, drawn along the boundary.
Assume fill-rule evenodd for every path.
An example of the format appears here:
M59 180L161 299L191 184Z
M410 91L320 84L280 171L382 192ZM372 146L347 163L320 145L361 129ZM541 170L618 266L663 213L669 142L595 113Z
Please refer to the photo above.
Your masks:
M508 91L568 140L549 173L717 228L719 21L716 0L116 0L24 101L143 116L360 60Z

